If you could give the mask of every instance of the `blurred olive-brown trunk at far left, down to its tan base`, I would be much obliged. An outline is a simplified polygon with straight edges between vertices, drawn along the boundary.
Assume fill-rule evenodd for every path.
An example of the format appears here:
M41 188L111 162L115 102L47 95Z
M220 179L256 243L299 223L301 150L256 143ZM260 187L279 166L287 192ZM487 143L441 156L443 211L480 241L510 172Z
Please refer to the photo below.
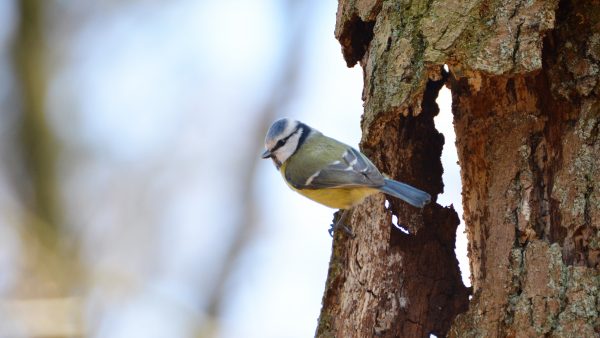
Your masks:
M79 296L74 297L80 266L76 248L68 243L56 182L57 143L48 126L47 41L45 6L36 0L17 2L13 64L19 101L18 132L7 165L21 205L15 222L20 235L22 266L10 292L15 299L0 304L0 333L30 336L81 335ZM76 292L75 292L76 294ZM52 314L52 315L50 315ZM50 317L48 317L50 316ZM53 320L48 320L52 318Z

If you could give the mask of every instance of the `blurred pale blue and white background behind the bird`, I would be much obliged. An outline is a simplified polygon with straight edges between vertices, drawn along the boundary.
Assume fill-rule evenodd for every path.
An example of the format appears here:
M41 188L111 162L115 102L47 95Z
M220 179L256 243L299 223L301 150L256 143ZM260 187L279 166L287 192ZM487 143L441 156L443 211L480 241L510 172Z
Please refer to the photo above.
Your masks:
M336 6L0 0L0 336L312 336L333 211L259 155L284 115L357 146Z

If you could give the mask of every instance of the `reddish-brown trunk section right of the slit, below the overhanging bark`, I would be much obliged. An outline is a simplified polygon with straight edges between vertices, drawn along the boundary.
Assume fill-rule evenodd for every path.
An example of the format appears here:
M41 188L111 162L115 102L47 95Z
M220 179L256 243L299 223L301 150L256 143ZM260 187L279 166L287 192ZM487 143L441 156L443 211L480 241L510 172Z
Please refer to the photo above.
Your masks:
M451 81L475 290L452 336L600 334L599 19L563 1L539 69Z

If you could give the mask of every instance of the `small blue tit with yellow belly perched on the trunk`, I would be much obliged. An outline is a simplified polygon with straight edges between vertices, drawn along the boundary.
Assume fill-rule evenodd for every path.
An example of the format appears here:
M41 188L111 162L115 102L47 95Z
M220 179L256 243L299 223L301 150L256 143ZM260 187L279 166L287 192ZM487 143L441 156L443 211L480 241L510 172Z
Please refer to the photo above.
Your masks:
M272 159L287 185L327 207L343 210L329 234L342 228L348 210L365 198L383 192L423 208L431 195L387 178L360 151L291 118L273 122L265 136L263 159Z

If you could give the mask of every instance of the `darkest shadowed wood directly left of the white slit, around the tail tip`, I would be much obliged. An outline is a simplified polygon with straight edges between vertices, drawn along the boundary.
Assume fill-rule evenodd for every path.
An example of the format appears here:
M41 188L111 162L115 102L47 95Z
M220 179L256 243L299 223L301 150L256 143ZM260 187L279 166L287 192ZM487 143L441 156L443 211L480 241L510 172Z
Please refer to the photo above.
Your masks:
M390 204L393 214L398 216L399 223L408 221L410 230L410 234L404 234L392 228L390 233L390 247L402 252L405 257L404 273L412 276L405 281L405 289L410 295L427 294L427 297L422 299L423 304L419 305L423 307L421 311L426 315L417 317L425 319L424 321L419 322L416 318L411 318L410 313L404 318L399 318L400 322L417 322L424 329L406 331L399 328L397 331L410 336L423 333L445 336L454 317L467 310L470 294L470 290L462 283L454 252L456 229L460 220L453 207L444 208L435 203L437 194L443 192L443 168L440 159L444 136L436 130L433 121L439 113L435 100L448 75L443 69L441 72L442 79L429 80L427 83L421 102L421 114L416 117L400 117L398 144L404 145L404 148L406 142L409 142L409 153L402 154L404 156L397 156L396 153L394 162L398 163L396 169L391 170L399 175L404 172L408 181L417 178L417 181L411 184L426 189L434 196L434 203L420 214L397 201ZM389 160L392 162L391 158ZM422 221L419 219L421 217ZM420 226L420 223L424 226L415 228ZM412 315L416 313L418 311Z

